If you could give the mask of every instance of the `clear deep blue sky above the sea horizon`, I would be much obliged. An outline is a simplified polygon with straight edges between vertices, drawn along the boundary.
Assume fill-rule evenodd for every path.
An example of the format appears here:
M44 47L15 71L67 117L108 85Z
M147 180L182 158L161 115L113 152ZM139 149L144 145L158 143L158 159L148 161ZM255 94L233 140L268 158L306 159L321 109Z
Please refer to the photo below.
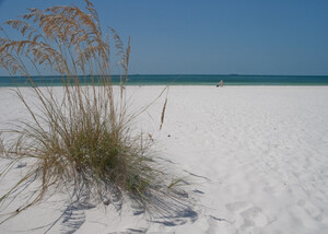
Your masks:
M93 2L103 27L131 36L130 73L328 74L327 0ZM26 8L70 3L84 5L0 0L0 22Z

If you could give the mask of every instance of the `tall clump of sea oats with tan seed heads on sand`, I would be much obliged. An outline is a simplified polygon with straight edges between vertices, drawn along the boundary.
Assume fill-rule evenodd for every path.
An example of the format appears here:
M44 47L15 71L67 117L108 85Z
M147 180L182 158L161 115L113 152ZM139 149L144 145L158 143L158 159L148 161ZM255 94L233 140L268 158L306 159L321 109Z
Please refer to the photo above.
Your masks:
M27 92L14 89L32 120L15 122L2 131L1 157L9 164L0 176L5 177L26 160L28 169L1 195L0 203L22 186L39 182L33 199L7 213L1 222L40 201L49 191L62 189L77 198L98 201L129 197L139 207L160 212L175 209L166 203L168 200L181 204L183 194L174 189L181 180L169 177L154 161L147 134L131 131L140 112L128 112L125 93L130 39L125 48L109 28L124 71L116 87L109 72L109 37L102 33L94 5L87 0L85 3L85 11L75 5L28 9L20 20L7 22L24 39L0 38L1 67L11 75L26 77L33 94L31 102ZM51 86L38 86L31 68L38 75L43 68L61 75L63 95L57 95ZM166 101L161 128L165 106Z

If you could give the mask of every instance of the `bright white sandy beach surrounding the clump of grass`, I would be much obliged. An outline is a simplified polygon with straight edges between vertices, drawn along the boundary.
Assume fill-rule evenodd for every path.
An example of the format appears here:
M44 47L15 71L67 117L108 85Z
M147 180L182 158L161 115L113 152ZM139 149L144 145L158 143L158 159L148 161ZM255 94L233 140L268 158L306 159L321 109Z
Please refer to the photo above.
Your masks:
M162 90L127 86L131 107ZM1 87L0 96L0 129L26 118L12 92ZM128 206L120 213L110 204L67 209L56 194L0 233L328 233L328 86L171 86L160 131L163 103L137 128L190 182L184 189L192 211L150 219ZM1 195L25 167L0 182Z

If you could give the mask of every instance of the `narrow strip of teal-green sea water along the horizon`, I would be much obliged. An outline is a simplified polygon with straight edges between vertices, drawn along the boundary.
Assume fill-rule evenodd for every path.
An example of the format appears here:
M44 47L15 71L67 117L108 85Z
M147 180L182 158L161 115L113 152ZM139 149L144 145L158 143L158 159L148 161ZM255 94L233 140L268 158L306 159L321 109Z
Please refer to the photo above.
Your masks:
M61 77L33 77L39 85L61 85ZM119 75L113 75L118 84ZM91 77L80 77L81 81L91 82ZM328 85L328 75L242 75L242 74L131 74L128 85L216 85L220 80L224 85ZM24 77L0 77L0 86L26 86Z

